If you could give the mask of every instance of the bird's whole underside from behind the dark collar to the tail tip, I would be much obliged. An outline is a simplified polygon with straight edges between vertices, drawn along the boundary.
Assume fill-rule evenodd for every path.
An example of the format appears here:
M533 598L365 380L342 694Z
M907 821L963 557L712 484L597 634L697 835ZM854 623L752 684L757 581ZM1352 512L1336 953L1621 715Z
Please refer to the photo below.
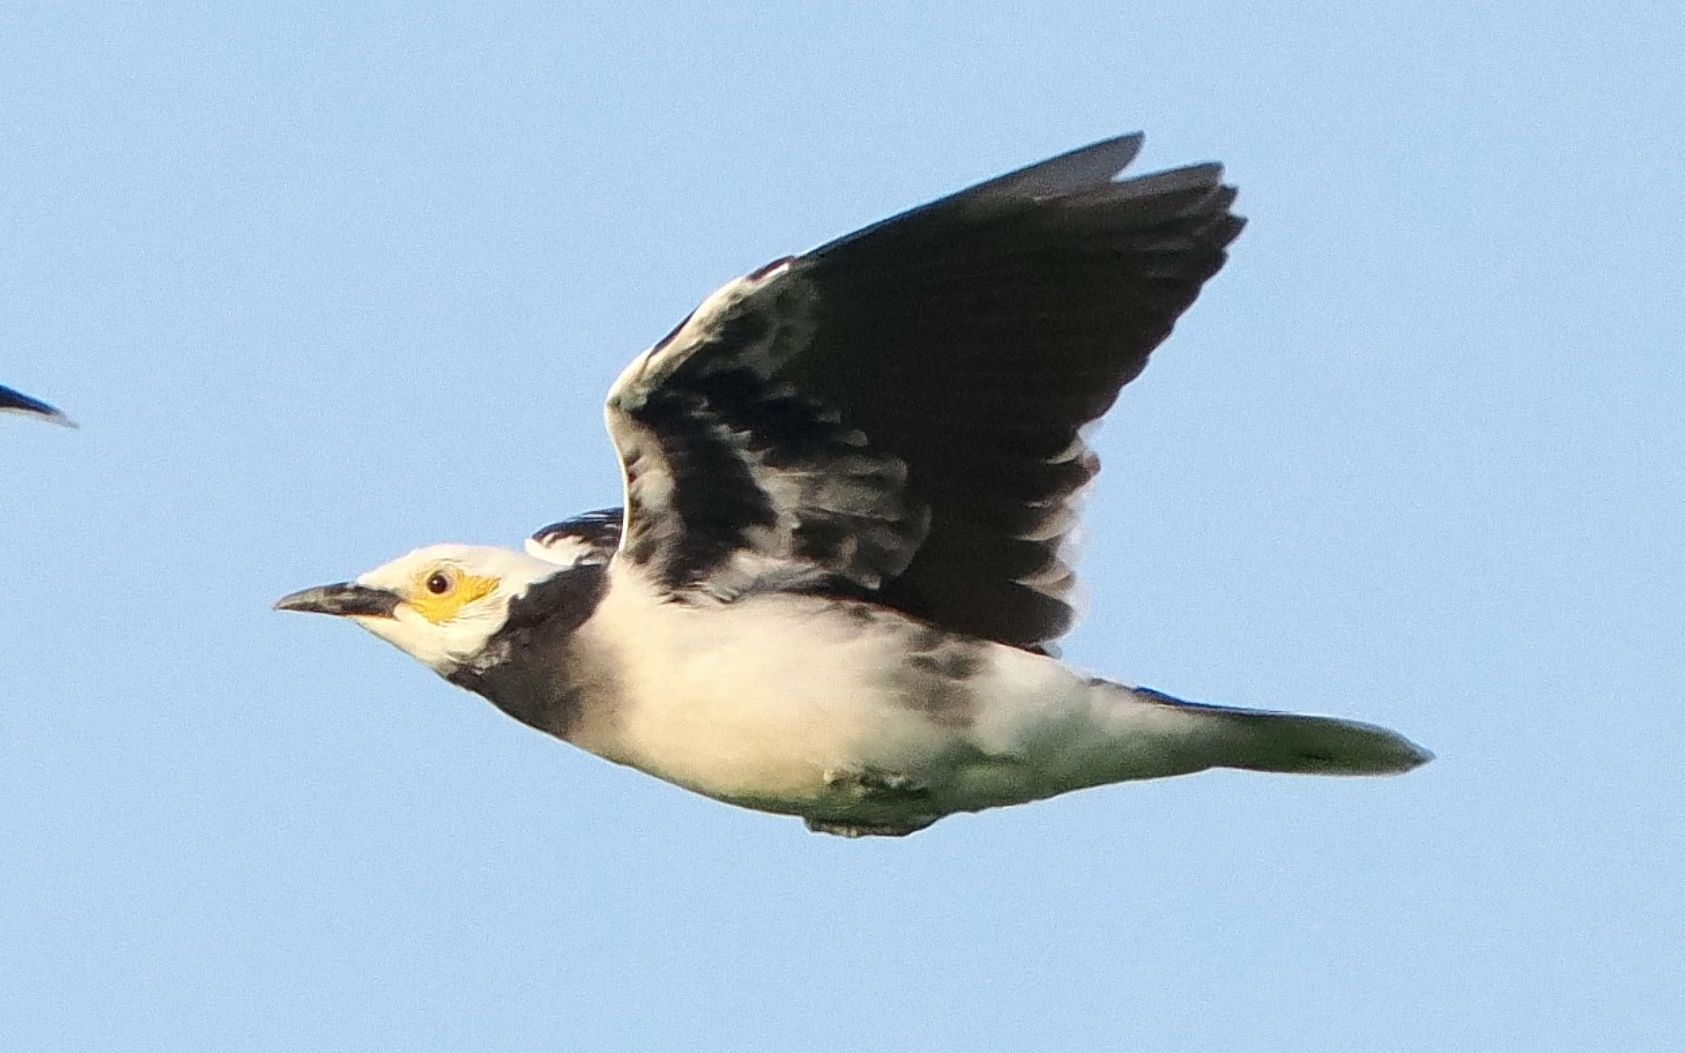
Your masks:
M566 738L822 824L907 832L1213 765L1395 772L1424 756L1365 724L1166 701L881 608L787 593L686 605L637 585L612 583L575 632L600 674Z

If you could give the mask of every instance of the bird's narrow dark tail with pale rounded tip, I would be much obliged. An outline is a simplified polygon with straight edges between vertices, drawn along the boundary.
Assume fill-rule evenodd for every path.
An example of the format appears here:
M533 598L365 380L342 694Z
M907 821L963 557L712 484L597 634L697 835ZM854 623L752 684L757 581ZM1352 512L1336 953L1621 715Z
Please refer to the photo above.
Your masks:
M1107 684L1134 719L1178 730L1200 767L1304 775L1399 775L1434 758L1397 731L1331 716L1185 703L1149 687ZM1115 703L1114 703L1115 704Z

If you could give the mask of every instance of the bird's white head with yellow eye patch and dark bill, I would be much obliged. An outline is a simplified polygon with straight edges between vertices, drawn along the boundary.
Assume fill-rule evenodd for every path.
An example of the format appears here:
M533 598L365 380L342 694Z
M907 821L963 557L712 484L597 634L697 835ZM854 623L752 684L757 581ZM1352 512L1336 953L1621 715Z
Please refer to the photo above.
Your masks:
M570 568L524 553L435 544L356 581L318 585L275 601L350 618L404 654L450 676L480 659L511 620L511 605Z

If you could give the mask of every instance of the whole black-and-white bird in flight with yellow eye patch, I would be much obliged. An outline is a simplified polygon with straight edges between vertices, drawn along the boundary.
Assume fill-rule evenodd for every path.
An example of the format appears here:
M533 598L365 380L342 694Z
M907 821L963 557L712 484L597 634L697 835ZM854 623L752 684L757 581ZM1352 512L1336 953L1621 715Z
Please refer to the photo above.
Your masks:
M1424 763L1385 728L1188 703L1053 655L1099 470L1083 425L1242 227L1220 165L1122 179L1139 148L1073 150L709 295L608 393L623 509L276 607L350 618L539 731L829 834L1217 767Z

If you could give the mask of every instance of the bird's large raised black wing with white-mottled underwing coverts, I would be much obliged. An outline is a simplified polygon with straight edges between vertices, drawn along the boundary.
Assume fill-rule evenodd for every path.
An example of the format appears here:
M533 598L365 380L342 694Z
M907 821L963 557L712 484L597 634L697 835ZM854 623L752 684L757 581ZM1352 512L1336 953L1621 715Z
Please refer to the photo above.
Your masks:
M1218 165L1107 140L713 293L608 394L617 559L674 595L832 586L1031 647L1073 618L1078 435L1240 233Z

